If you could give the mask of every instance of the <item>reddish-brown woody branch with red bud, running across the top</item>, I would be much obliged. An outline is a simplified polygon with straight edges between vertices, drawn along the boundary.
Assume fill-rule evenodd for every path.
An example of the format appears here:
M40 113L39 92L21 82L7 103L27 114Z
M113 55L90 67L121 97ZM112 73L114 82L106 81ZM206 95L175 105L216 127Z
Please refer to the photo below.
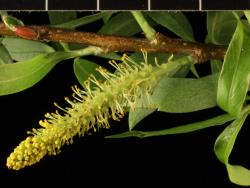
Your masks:
M113 35L101 35L91 32L57 29L47 26L17 26L16 31L10 31L3 23L0 23L0 35L19 36L30 40L79 43L98 46L105 52L113 51L147 51L164 53L190 54L199 62L207 60L223 59L226 46L186 42L180 39L168 38L160 33L154 41L142 38L120 37Z

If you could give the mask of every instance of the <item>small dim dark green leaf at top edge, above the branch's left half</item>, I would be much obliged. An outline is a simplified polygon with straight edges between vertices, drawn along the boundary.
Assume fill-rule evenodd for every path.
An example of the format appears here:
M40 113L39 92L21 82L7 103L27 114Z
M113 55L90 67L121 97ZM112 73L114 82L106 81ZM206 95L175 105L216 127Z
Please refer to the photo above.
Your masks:
M68 12L55 12L55 11L49 11L49 21L50 24L56 25L56 24L62 24L68 21L71 21L73 19L77 18L77 14L75 11L68 11Z

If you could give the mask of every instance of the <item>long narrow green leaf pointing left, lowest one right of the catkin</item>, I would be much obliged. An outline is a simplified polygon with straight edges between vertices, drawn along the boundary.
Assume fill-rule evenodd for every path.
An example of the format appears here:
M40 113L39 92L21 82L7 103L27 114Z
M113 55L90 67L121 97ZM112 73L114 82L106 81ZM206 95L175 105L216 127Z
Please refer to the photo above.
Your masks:
M162 135L170 135L170 134L182 134L182 133L190 133L194 131L198 131L201 129L205 129L208 127L214 127L218 125L223 125L226 122L234 120L234 117L232 117L229 114L220 115L208 120L195 122L187 125L182 125L174 128L169 129L163 129L159 131L128 131L121 134L115 134L106 136L106 138L125 138L125 137L139 137L139 138L145 138L145 137L151 137L151 136L162 136Z

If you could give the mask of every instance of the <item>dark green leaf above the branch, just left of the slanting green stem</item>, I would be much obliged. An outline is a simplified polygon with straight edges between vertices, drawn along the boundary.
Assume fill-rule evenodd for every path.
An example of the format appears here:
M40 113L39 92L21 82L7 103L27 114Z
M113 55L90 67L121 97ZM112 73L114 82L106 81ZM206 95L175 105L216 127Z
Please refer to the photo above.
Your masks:
M98 32L99 34L132 36L141 32L140 26L129 12L121 12L112 17Z

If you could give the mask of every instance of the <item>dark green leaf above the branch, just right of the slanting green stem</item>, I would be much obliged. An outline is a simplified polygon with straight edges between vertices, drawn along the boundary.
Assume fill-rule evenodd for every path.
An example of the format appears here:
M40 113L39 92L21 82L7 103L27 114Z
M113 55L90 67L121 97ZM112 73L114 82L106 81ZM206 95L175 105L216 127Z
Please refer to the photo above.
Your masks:
M187 41L194 41L192 27L182 12L146 12L155 22Z

